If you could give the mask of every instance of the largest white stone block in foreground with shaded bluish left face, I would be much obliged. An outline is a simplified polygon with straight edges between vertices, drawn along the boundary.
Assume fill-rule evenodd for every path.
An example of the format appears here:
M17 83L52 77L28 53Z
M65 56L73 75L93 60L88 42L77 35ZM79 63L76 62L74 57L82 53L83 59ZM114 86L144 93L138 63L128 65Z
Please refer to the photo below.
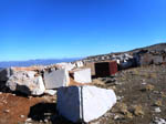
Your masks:
M70 86L58 90L58 111L68 120L91 122L104 115L116 103L113 90L96 86Z

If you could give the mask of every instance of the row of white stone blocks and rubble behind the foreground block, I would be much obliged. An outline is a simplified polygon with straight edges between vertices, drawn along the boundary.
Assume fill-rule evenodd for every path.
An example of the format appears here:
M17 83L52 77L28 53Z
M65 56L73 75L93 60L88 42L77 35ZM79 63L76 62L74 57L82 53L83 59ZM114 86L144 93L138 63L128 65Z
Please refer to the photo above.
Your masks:
M28 95L54 94L55 92L48 92L48 90L92 82L91 69L76 66L83 66L83 62L8 68L0 71L0 82L6 82L6 86L11 91L19 91ZM71 81L74 81L74 83Z

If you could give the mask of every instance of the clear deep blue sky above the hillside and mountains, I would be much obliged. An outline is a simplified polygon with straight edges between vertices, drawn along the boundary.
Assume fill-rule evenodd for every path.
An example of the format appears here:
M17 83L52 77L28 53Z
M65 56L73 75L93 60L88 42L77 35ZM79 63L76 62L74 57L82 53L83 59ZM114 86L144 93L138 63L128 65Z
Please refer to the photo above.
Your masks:
M166 0L0 0L0 61L83 58L166 42Z

